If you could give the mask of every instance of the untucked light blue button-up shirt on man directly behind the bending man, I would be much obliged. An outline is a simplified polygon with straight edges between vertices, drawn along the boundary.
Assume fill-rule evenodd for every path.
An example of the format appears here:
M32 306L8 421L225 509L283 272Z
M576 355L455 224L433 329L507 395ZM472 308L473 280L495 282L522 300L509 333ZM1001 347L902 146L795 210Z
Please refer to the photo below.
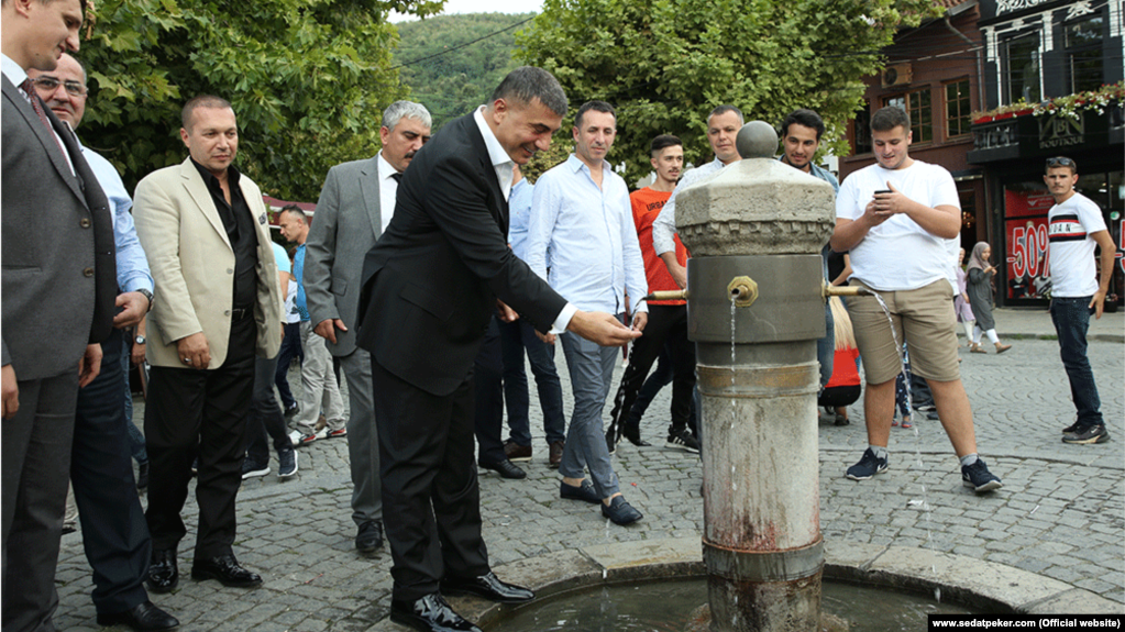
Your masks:
M602 161L602 187L570 154L536 182L526 263L578 309L620 314L648 294L629 188ZM548 269L550 273L548 274Z

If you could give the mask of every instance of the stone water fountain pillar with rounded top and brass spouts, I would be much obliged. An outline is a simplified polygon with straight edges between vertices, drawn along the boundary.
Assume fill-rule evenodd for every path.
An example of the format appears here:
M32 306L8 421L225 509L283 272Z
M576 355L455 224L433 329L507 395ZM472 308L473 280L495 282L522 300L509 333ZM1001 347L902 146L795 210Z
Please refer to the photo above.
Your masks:
M753 121L744 157L676 198L688 337L703 398L703 559L712 632L820 630L817 340L831 186L774 160Z

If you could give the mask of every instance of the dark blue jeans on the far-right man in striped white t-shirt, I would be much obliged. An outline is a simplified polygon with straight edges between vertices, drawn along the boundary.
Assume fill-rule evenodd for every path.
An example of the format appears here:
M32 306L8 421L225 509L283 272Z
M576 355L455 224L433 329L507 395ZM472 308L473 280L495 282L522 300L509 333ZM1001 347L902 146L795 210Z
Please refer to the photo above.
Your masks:
M1051 320L1059 334L1059 354L1070 378L1070 395L1078 408L1078 424L1104 425L1101 400L1094 383L1094 370L1086 356L1086 332L1090 328L1090 300L1092 296L1054 297L1051 299Z

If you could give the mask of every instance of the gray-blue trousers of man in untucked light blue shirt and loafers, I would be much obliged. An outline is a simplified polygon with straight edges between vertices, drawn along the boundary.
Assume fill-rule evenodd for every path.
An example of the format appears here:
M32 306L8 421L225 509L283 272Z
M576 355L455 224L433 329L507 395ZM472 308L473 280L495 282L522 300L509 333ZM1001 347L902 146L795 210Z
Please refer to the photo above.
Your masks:
M565 478L585 478L583 470L588 468L597 496L609 498L620 487L610 463L610 450L605 445L602 408L610 395L613 365L621 350L598 346L572 333L559 335L559 340L562 341L562 352L570 370L570 387L574 389L574 414L570 415L559 473Z

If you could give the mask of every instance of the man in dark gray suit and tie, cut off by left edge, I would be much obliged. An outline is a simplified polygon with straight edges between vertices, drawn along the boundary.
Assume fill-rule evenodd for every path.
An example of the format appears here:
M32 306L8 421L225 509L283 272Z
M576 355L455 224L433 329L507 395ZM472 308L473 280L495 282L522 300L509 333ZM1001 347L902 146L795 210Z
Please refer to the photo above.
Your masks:
M78 51L86 2L0 0L0 628L53 631L78 390L117 298L109 205L27 71ZM80 373L81 371L81 373Z

